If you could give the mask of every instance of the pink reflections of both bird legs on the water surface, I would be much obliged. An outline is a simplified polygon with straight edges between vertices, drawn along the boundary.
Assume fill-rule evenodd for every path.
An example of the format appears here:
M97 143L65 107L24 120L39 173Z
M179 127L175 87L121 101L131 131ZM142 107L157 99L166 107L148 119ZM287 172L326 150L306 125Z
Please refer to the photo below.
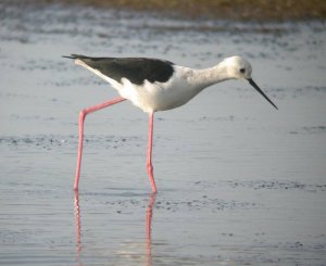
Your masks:
M148 206L146 210L146 266L152 265L152 217L153 217L153 207L155 204L156 192L150 194ZM80 207L79 207L79 193L78 190L75 191L75 226L76 226L76 262L77 266L83 266L80 255L83 251L82 244L82 223L80 223Z

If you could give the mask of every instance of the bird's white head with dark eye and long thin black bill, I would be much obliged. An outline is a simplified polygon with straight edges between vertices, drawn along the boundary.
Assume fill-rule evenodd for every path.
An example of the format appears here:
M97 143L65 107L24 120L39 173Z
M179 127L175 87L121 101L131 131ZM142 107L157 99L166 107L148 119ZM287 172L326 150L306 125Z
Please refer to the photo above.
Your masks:
M222 62L226 67L227 76L234 79L247 79L249 84L260 92L275 109L277 106L272 100L262 91L262 89L251 78L252 67L251 64L241 56L227 58Z

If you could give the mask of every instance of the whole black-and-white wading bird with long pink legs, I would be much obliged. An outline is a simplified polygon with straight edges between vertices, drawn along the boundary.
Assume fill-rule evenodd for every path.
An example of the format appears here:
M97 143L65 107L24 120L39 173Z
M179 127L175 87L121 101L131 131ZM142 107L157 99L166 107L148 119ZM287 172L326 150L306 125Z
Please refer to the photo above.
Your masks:
M187 103L204 88L227 79L247 79L275 109L277 106L251 78L252 67L241 56L231 56L205 69L193 69L172 62L147 58L90 58L80 54L64 56L74 59L117 90L121 97L79 113L79 141L74 189L78 190L83 153L84 121L86 115L115 103L129 100L149 114L147 170L152 191L156 192L152 166L153 114Z

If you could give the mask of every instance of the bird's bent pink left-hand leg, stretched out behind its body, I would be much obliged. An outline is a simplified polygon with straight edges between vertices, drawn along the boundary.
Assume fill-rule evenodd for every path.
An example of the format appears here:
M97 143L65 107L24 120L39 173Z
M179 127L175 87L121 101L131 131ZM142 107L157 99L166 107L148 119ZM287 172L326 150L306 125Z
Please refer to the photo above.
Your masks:
M111 101L100 103L98 105L84 109L79 113L79 140L78 140L78 157L77 157L77 167L76 167L76 178L75 178L75 185L74 190L78 190L78 183L79 183L79 175L80 175L80 164L82 164L82 153L83 153L83 138L84 138L84 121L86 115L93 113L96 111L99 111L104 107L109 107L110 105L113 105L115 103L125 101L126 99L118 97Z

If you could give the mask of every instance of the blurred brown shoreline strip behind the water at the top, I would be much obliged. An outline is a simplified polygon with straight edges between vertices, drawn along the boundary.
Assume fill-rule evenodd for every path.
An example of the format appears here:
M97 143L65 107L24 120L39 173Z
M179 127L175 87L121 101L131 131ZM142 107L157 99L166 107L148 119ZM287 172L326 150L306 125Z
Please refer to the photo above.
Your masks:
M236 21L305 21L326 18L323 0L27 0L24 4L64 3L158 12L180 18Z

